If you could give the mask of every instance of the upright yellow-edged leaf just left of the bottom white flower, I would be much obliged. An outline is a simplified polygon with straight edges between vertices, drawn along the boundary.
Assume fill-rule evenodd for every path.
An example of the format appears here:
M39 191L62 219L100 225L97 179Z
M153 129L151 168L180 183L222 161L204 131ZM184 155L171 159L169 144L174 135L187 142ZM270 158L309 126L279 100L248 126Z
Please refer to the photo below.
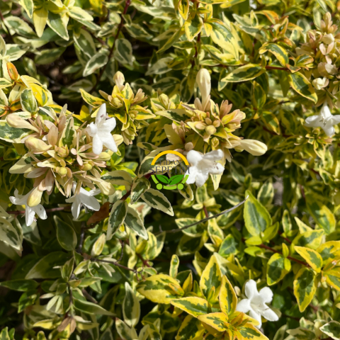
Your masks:
M200 277L200 290L205 297L210 297L210 301L215 302L217 301L221 284L222 273L220 266L217 263L215 255L212 255L207 266L204 268L202 276ZM215 289L215 293L213 294L210 293L212 288Z

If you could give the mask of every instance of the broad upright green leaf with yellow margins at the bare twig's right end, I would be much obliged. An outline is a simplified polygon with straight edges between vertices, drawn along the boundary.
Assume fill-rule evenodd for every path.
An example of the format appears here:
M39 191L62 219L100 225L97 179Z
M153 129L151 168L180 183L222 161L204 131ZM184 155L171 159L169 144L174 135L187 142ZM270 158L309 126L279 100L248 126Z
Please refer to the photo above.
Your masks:
M271 227L272 220L268 210L259 203L250 191L246 191L245 196L249 198L244 203L244 222L246 229L252 236L259 236L268 227Z

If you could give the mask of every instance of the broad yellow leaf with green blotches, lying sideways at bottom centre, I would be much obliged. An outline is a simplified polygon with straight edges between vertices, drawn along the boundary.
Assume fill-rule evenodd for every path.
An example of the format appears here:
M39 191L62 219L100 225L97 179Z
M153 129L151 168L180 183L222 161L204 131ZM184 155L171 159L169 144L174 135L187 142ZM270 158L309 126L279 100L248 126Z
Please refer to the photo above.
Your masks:
M141 281L137 285L137 291L155 303L171 303L184 295L178 281L165 274L150 276Z

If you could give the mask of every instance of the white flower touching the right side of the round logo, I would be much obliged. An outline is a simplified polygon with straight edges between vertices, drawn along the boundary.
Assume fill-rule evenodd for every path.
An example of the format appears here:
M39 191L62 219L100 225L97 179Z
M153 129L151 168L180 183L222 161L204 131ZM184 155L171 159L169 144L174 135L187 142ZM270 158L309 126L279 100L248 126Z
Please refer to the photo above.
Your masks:
M195 150L191 150L186 155L188 162L192 164L186 175L189 175L186 183L196 183L196 186L203 186L208 180L209 174L219 175L225 170L224 166L216 161L223 158L221 149L208 152L208 154L201 154Z

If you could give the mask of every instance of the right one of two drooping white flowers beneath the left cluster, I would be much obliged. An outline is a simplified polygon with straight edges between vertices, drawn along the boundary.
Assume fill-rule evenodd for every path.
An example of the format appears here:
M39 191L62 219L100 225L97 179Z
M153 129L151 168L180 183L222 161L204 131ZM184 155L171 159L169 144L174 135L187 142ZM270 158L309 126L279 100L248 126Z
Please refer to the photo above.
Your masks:
M72 191L73 193L76 191L77 183L73 183ZM86 208L89 208L91 210L98 211L101 208L101 205L99 204L98 200L94 197L98 195L98 193L101 193L100 189L96 190L90 190L86 191L84 188L80 188L80 191L78 194L67 198L65 200L66 203L72 203L72 216L77 219L80 213L81 205L84 205Z

